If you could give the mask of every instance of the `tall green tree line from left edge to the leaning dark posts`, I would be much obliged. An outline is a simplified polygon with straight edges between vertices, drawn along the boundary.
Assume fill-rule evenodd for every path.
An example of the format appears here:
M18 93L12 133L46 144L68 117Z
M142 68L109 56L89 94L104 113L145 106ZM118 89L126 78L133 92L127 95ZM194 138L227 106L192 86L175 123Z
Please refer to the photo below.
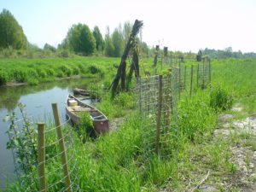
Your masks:
M45 55L58 52L61 56L68 56L73 53L76 55L95 54L119 57L125 49L131 27L132 24L127 21L116 27L112 34L109 27L107 27L107 34L103 38L98 26L95 26L91 31L89 26L79 23L68 30L66 38L63 39L61 44L58 44L57 48L50 44L44 44L44 48L39 49L38 46L27 41L22 27L15 20L14 15L9 10L3 9L0 14L0 50L6 55L15 50L19 50L18 55L22 55L22 51L30 50ZM148 55L148 45L145 42L140 42L140 47L144 55Z

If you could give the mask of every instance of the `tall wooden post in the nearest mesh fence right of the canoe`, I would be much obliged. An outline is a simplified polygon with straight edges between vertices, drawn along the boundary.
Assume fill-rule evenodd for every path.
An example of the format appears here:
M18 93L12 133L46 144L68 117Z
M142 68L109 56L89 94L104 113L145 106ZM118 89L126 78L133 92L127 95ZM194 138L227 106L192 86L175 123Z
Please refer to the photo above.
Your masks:
M162 79L163 75L159 76L159 91L158 91L158 112L156 119L156 138L155 138L155 152L160 153L160 123L161 123L161 111L162 111Z

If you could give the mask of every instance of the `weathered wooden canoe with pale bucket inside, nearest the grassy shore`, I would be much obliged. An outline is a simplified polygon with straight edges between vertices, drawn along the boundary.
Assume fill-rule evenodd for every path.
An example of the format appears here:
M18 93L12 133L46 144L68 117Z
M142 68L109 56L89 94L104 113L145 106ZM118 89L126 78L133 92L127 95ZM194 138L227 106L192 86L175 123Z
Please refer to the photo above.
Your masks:
M73 102L77 102L76 106L72 106ZM90 113L90 119L93 121L93 126L98 133L107 132L109 129L109 119L97 108L90 106L84 102L81 102L78 98L72 95L67 96L66 102L67 115L73 121L74 124L79 124L79 113L85 111Z

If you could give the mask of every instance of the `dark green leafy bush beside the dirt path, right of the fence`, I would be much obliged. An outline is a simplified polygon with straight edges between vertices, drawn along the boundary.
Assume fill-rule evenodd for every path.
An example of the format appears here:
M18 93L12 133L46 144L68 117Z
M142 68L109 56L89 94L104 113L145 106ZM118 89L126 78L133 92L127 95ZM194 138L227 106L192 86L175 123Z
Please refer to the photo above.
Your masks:
M227 90L216 85L212 87L210 93L210 107L216 111L223 111L230 109L233 104L233 96Z

